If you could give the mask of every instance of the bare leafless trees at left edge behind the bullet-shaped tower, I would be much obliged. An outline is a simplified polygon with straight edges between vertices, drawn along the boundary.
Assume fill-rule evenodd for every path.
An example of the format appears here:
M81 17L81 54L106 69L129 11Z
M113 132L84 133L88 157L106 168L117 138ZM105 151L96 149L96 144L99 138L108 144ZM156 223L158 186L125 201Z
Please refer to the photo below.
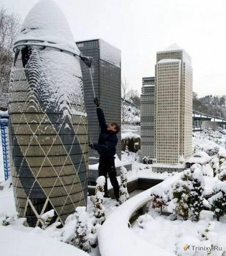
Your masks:
M20 17L0 4L0 98L7 97L12 67L13 42L20 29Z

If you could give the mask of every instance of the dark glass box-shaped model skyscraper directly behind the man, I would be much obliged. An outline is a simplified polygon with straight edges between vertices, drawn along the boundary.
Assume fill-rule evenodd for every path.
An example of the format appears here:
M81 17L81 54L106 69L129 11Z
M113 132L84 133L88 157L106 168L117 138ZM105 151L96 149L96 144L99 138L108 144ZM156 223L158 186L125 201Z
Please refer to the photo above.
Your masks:
M93 57L91 72L93 75L96 97L105 114L106 123L121 124L121 51L102 39L93 39L76 42L84 56ZM93 91L89 70L81 63L84 99L88 117L88 130L91 142L97 142L100 134L99 123L94 105ZM117 133L118 143L116 154L121 158L121 132ZM97 151L89 148L89 162L99 162ZM97 170L90 170L89 182L95 184L98 177Z

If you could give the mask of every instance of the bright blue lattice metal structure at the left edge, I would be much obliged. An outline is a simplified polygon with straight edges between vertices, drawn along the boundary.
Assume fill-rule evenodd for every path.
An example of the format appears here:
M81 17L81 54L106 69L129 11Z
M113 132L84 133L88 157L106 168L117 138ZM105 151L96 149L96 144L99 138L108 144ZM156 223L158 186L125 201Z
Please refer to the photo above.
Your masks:
M3 148L3 164L4 164L4 174L5 180L8 180L10 176L10 166L8 165L8 154L7 154L7 131L9 125L9 115L7 112L0 113L0 128L1 128L1 141Z

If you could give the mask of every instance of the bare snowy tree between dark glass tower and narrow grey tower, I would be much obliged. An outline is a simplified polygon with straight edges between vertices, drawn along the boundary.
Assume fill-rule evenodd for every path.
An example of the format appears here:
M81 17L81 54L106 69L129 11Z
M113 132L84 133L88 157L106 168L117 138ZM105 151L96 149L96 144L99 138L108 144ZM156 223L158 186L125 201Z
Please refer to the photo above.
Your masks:
M128 81L124 78L121 81L121 123L138 124L140 122L139 110L134 106L132 97L134 90L131 89Z

